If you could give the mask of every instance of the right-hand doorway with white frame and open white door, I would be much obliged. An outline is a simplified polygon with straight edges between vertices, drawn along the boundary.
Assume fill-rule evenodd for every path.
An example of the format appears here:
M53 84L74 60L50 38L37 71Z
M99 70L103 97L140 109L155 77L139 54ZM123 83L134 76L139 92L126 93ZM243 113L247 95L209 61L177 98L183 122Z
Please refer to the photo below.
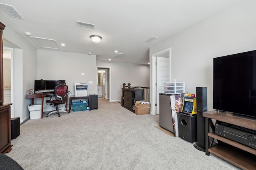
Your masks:
M171 48L151 55L151 114L159 114L159 93L163 92L164 82L171 80Z

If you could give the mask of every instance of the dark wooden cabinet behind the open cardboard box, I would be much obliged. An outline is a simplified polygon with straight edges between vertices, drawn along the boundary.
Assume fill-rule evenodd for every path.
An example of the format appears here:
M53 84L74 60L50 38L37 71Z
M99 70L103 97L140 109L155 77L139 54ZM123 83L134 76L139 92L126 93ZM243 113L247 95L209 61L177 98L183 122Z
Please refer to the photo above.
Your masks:
M143 89L122 88L121 106L135 113L135 111L132 109L134 100L143 100L143 92Z

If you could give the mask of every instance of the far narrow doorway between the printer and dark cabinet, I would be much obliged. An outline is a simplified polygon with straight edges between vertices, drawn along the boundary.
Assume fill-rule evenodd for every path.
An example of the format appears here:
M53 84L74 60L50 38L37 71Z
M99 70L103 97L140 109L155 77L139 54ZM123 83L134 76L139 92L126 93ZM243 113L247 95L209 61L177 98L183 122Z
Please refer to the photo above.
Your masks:
M97 86L98 86L98 98L104 98L110 101L110 67L97 66Z

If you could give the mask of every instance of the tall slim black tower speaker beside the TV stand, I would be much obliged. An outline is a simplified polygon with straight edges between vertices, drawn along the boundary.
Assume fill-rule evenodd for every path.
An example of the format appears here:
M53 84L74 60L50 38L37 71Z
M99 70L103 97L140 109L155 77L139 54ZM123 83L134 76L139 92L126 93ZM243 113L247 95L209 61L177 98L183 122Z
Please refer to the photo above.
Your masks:
M205 118L203 111L207 111L207 87L196 87L197 107L197 143L194 147L205 151Z

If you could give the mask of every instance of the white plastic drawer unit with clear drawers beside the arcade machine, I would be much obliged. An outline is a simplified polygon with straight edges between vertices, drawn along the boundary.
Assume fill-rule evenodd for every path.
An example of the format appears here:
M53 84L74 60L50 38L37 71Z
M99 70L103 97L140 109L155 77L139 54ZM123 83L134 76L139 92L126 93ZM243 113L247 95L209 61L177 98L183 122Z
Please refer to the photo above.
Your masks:
M168 94L180 94L185 93L185 83L164 83L164 93Z

